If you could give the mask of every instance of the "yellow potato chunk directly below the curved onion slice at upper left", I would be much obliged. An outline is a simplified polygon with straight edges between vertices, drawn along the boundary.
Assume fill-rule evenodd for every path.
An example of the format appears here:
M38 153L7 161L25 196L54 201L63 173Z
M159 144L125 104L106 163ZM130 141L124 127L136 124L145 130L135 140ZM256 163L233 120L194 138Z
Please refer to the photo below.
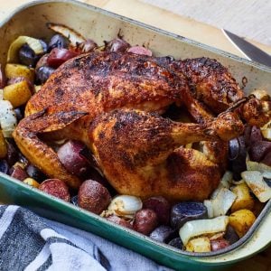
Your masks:
M7 63L5 65L5 76L8 79L23 76L33 82L35 77L35 70L21 64Z

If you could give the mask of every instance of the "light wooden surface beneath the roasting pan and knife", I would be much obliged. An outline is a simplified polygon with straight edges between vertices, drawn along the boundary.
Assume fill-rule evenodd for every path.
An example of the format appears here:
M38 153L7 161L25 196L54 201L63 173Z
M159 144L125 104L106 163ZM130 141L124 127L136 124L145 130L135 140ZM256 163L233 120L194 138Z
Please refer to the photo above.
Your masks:
M14 9L29 0L0 0L0 21L4 20ZM206 43L224 51L242 56L242 54L226 39L220 29L205 23L198 23L153 5L138 0L81 0L80 2L96 5L116 14L148 23L158 28L180 34L198 42ZM253 42L262 50L271 53L271 47ZM238 263L230 270L271 271L271 248L266 249L255 257Z

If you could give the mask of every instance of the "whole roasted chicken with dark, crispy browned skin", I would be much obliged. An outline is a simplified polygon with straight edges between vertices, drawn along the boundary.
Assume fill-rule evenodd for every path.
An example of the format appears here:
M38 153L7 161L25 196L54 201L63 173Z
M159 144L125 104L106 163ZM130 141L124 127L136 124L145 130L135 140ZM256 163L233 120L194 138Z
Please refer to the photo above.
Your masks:
M172 104L186 107L194 123L162 117ZM81 180L67 172L44 135L88 145L119 193L203 200L220 181L227 141L243 132L242 120L262 125L270 107L245 98L215 60L91 52L51 75L28 102L14 140L31 163L73 188Z

